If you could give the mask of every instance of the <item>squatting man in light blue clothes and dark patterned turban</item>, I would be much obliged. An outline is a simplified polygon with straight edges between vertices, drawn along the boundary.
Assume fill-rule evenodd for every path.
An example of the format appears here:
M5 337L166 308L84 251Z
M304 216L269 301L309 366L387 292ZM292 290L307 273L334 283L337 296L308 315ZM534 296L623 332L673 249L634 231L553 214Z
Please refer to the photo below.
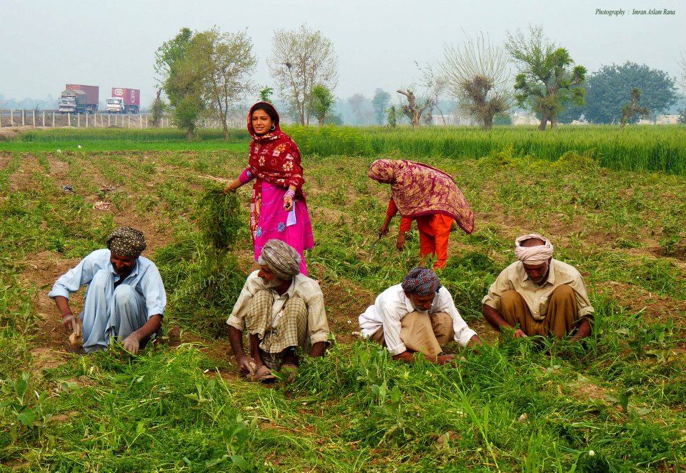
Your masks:
M82 335L86 353L106 349L110 337L117 337L126 350L137 354L160 329L166 294L155 264L141 257L145 248L141 231L120 226L107 239L107 249L82 259L57 279L48 294L62 314L64 329ZM86 284L84 310L79 314L81 332L69 295Z

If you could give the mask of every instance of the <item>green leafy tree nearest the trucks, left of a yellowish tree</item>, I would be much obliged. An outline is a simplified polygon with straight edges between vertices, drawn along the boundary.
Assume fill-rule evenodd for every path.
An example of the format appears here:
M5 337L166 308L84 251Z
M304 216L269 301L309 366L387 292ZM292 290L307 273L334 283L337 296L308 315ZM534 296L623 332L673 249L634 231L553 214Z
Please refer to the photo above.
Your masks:
M202 76L188 60L193 32L182 28L174 39L165 41L155 53L155 72L169 98L174 124L186 130L192 140L197 122L204 110Z

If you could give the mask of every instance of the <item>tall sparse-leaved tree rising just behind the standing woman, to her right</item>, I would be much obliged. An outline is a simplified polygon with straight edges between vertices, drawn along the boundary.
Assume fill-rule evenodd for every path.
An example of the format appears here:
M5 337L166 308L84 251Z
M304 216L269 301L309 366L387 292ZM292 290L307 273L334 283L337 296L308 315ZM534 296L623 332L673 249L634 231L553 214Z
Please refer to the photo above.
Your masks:
M309 124L312 88L316 84L333 91L338 64L332 42L321 31L300 29L274 32L269 71L277 81L282 98L294 108L301 124Z

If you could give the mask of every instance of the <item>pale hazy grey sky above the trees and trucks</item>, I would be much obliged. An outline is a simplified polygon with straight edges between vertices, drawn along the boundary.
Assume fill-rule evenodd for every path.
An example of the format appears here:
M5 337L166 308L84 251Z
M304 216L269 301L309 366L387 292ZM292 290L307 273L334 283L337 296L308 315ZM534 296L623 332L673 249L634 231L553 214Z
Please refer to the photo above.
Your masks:
M626 11L624 16L596 10ZM632 9L675 10L675 15L633 15ZM6 99L57 97L64 84L141 89L141 105L154 98L154 54L188 26L247 30L259 59L254 81L274 85L267 58L275 29L306 23L334 44L339 64L335 94L371 97L419 79L419 64L437 64L444 44L464 30L501 43L507 31L541 24L577 64L596 71L627 60L676 76L686 54L682 0L272 0L98 1L0 0L0 95Z

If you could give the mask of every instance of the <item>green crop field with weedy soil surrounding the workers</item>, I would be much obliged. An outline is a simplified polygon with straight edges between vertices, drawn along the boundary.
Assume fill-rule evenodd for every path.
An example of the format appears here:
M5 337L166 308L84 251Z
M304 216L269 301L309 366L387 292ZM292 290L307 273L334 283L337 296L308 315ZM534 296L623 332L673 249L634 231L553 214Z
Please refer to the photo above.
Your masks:
M247 162L244 131L0 141L1 471L686 469L683 126L287 132L304 154L307 263L336 343L271 387L239 376L224 322L255 267L247 186L234 248L203 231L203 196ZM369 261L389 189L367 167L382 156L444 169L474 209L474 233L452 234L439 272L487 342L478 354L451 345L457 366L394 362L358 337L357 316L419 263L416 231L395 249L397 221ZM144 231L164 278L166 336L136 357L68 354L47 293L124 224ZM596 320L583 345L503 337L482 320L487 287L529 231L585 277Z

